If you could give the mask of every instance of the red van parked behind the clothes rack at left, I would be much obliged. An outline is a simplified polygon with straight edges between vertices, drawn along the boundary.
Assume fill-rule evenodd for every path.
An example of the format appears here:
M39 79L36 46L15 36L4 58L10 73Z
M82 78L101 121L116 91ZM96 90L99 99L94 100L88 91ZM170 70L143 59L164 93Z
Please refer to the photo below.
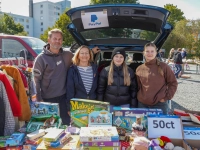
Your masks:
M43 50L44 45L45 42L38 38L3 34L0 35L0 58L20 57L26 52L28 66L32 67L34 59ZM14 61L16 64L17 62Z

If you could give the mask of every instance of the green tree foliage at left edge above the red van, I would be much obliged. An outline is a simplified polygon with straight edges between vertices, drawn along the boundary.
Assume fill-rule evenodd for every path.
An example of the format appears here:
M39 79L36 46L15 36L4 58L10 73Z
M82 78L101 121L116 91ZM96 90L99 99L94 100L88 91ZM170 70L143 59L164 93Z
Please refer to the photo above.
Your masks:
M3 14L0 16L0 33L11 34L11 35L27 35L24 31L24 27L20 23L15 23L14 19Z

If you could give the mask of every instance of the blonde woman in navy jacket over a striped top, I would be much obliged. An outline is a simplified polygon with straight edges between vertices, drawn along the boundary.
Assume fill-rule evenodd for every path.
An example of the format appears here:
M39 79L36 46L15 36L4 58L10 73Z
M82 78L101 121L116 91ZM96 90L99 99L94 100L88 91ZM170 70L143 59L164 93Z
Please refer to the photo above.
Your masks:
M67 75L67 103L72 98L96 100L98 71L97 65L93 64L92 51L84 45L79 47L72 62Z

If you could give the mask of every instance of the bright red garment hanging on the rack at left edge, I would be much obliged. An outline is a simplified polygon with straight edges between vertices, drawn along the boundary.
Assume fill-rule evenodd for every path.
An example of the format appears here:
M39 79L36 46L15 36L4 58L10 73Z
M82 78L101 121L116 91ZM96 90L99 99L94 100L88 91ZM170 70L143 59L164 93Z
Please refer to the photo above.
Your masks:
M0 72L0 80L3 82L7 95L8 95L8 99L10 102L10 106L13 112L13 116L15 117L19 117L21 116L21 105L19 103L19 100L17 99L17 96L15 94L14 89L12 88L10 82L8 81L8 78L6 77L5 74Z

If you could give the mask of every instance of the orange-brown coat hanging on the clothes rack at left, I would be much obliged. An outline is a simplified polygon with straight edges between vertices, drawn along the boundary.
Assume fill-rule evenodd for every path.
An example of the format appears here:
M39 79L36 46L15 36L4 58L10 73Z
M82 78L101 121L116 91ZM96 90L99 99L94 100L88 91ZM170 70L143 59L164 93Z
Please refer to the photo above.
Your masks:
M1 66L5 69L8 75L10 75L14 80L14 90L17 94L19 102L21 104L22 115L19 117L19 121L29 121L31 118L31 110L28 102L28 96L21 78L21 75L16 67L13 66Z

